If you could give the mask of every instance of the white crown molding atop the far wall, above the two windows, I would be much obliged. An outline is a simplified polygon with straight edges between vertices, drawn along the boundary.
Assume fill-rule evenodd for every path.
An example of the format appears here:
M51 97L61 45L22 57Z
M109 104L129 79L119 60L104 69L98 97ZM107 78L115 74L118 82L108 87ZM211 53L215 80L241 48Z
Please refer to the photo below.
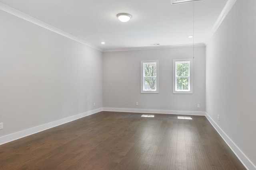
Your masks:
M153 50L153 49L172 49L172 48L186 48L186 47L193 47L193 44L103 49L103 52ZM205 44L204 43L197 43L197 44L194 44L194 47L205 47Z

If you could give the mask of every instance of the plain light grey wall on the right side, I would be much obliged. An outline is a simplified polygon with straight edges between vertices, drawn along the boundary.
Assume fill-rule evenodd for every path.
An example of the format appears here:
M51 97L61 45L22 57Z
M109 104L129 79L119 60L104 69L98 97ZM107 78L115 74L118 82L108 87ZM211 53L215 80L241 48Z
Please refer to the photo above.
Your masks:
M206 46L206 112L249 169L256 169L255 9L255 0L237 0Z

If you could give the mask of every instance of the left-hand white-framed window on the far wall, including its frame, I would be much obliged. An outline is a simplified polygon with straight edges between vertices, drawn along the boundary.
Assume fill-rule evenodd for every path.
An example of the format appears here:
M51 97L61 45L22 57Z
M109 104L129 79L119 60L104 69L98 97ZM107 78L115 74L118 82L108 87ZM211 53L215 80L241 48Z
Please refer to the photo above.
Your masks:
M141 93L158 93L158 61L141 61Z

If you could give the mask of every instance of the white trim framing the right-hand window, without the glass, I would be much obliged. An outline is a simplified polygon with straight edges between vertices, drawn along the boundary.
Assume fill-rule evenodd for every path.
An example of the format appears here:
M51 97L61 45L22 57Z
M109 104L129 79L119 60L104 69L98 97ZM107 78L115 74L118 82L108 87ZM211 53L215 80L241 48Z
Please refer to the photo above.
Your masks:
M188 61L190 62L190 67L189 67L189 70L190 70L190 78L189 78L189 91L177 91L176 90L176 86L177 86L177 83L176 83L176 62L184 62L184 61ZM193 59L174 59L172 61L172 66L173 66L173 93L174 94L192 94L193 93L193 88L192 88L192 80L193 80Z

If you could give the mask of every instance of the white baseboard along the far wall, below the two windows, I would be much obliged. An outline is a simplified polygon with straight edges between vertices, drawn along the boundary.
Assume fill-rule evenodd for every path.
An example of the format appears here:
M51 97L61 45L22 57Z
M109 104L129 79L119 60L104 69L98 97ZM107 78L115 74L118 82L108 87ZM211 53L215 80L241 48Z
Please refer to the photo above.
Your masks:
M176 115L205 115L204 111L128 109L128 108L111 108L111 107L103 107L102 111L120 111L120 112L132 112L132 113L164 113L164 114L176 114Z

